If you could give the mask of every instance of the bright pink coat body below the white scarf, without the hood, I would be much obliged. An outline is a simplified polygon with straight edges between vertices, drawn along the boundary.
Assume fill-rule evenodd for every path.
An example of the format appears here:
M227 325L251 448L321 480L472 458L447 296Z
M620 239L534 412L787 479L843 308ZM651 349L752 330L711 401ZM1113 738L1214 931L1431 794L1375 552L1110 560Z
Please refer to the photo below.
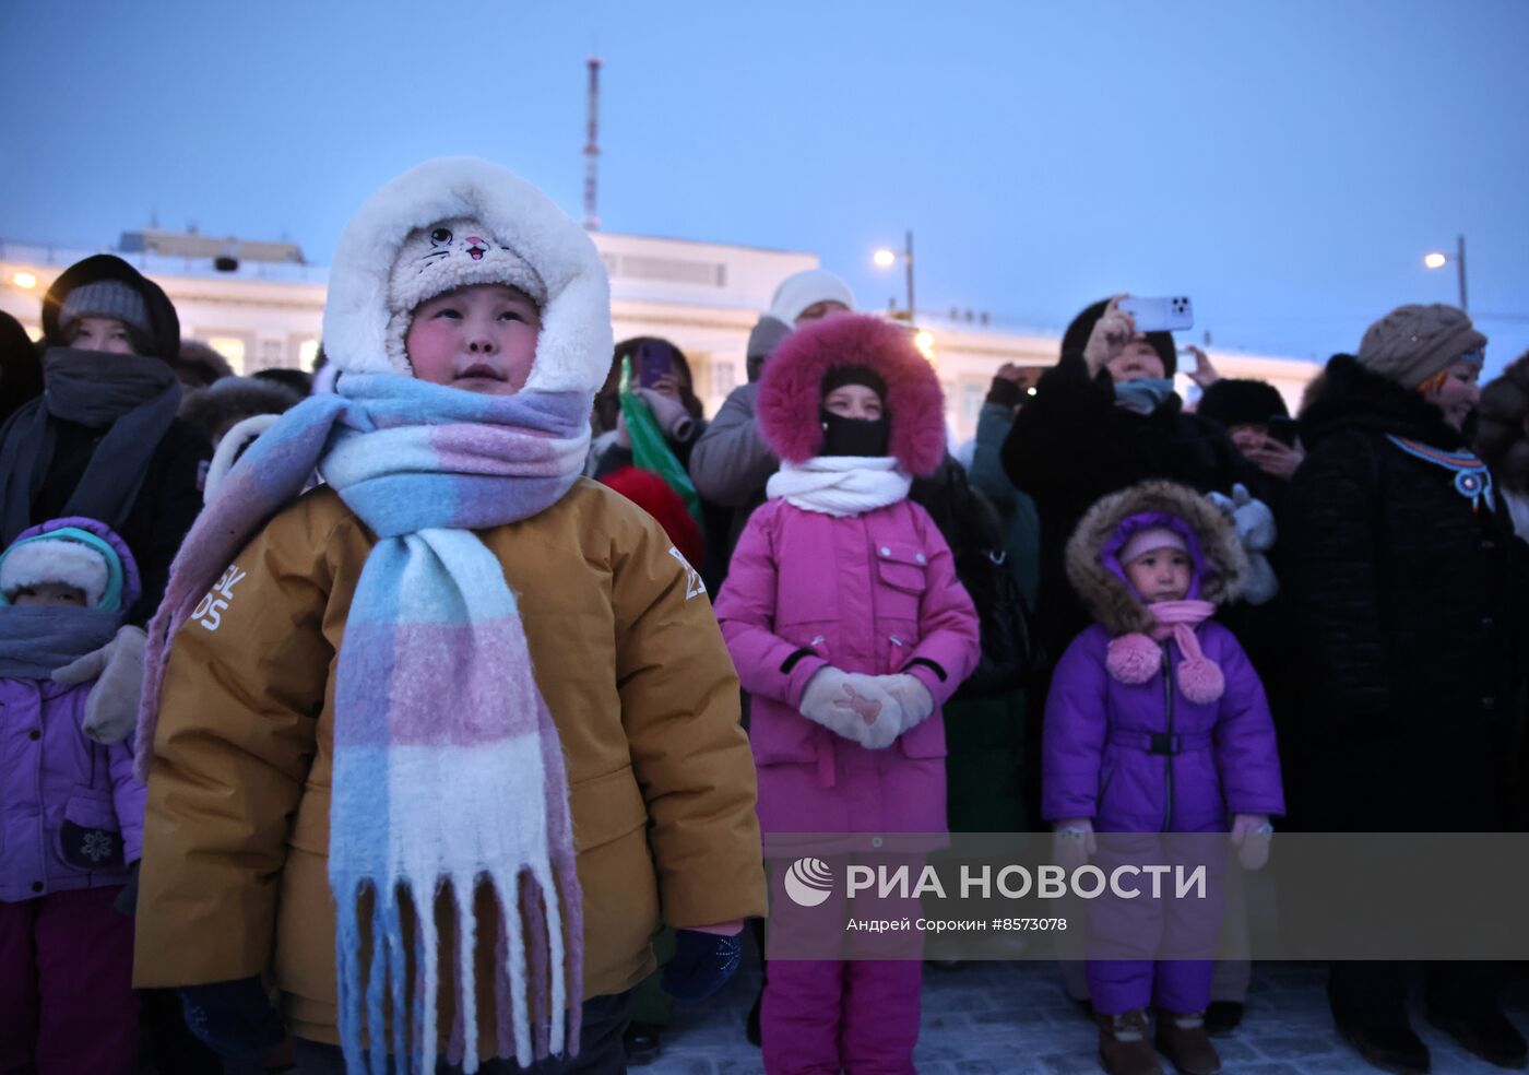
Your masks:
M939 705L980 654L977 613L950 547L917 505L853 517L771 500L749 518L717 598L722 636L752 696L749 742L769 832L945 832ZM884 751L798 713L824 667L908 671L936 711Z

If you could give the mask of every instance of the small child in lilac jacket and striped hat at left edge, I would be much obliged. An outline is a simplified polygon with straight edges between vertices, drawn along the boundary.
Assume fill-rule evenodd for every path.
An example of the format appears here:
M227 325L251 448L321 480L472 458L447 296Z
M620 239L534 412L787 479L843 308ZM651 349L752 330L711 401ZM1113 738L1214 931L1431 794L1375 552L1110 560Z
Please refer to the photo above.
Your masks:
M141 590L90 518L24 531L0 555L0 1070L136 1070L133 919L113 904L139 858L144 784L127 743L84 731L98 653Z

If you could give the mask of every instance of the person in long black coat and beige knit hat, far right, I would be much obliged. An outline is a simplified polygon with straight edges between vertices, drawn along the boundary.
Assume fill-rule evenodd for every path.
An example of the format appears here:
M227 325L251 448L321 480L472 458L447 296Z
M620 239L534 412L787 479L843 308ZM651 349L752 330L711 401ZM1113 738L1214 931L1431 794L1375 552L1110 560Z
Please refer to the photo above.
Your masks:
M1283 567L1306 688L1292 794L1307 827L1492 832L1511 815L1521 560L1465 434L1485 344L1459 309L1399 307L1358 358L1333 356L1301 416ZM1401 971L1333 963L1333 1018L1376 1067L1428 1070ZM1428 963L1427 985L1436 1026L1524 1064L1492 965Z

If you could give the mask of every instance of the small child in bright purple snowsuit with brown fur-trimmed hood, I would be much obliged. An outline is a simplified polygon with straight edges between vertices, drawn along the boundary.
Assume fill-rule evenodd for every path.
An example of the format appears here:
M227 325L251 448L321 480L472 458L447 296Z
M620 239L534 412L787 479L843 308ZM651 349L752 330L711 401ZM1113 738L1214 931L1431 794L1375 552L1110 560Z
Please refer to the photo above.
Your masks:
M1067 543L1067 573L1096 619L1057 664L1046 702L1043 815L1060 856L1095 832L1228 832L1248 852L1284 812L1274 722L1237 639L1211 616L1248 570L1231 521L1171 482L1099 500ZM1099 908L1102 911L1102 908ZM1154 913L1133 905L1121 914ZM1203 925L1203 924L1202 924ZM1174 921L1145 928L1193 930ZM1147 1043L1185 1072L1220 1061L1202 1026L1212 963L1090 960L1105 1070L1161 1070Z

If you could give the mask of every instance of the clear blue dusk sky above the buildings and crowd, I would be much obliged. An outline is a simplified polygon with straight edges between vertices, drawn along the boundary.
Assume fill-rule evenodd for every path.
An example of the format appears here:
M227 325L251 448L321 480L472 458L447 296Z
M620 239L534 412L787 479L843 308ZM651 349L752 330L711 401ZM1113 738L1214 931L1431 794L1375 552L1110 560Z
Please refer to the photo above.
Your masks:
M1180 343L1326 359L1457 301L1529 349L1529 3L0 0L0 239L157 219L329 263L422 159L509 165L605 231L807 251L865 307L1060 330L1190 295Z

